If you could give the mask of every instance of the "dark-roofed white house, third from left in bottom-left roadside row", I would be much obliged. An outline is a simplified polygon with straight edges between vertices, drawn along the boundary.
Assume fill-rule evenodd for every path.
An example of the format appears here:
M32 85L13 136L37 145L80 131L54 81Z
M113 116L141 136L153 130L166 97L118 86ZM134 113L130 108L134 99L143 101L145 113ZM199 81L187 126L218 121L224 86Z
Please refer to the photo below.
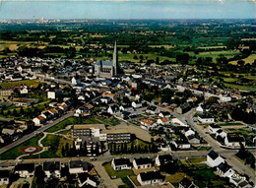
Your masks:
M42 169L47 178L50 177L61 177L61 166L60 161L47 161L42 163Z

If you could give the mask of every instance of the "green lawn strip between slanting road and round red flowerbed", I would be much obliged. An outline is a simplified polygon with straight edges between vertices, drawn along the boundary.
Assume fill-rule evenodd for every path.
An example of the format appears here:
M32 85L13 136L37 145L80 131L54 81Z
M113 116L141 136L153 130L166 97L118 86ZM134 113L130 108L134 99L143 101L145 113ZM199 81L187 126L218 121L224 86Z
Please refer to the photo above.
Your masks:
M38 147L37 141L42 138L42 134L37 135L36 137L33 137L31 140L26 141L25 143L19 145L18 147L15 147L8 152L1 155L0 159L13 159L19 156L24 155L25 153L22 152L22 149L26 147Z

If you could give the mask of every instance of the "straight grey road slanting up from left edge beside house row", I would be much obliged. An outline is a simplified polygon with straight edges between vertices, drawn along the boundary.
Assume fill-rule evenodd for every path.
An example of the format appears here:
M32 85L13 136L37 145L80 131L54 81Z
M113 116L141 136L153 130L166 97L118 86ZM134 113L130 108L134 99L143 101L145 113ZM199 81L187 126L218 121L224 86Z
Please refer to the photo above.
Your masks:
M5 153L5 152L7 152L8 150L10 150L10 149L12 149L12 148L14 148L14 147L17 147L17 146L21 145L22 143L24 143L24 142L26 142L26 141L32 139L35 135L38 135L38 134L42 133L43 131L45 131L45 130L51 128L52 126L58 124L59 122L65 120L66 118L71 117L73 114L74 114L73 111L68 112L67 114L65 114L65 115L63 115L63 116L61 116L61 117L59 117L58 119L56 119L56 120L54 120L54 121L52 121L52 122L46 123L46 124L43 125L42 127L40 127L40 128L38 128L37 130L33 131L31 134L25 135L24 137L22 137L21 139L17 140L16 142L14 142L14 143L12 143L12 144L10 144L10 145L7 145L7 146L1 148L1 149L0 149L0 155L3 154L3 153ZM35 132L36 132L36 134L35 134Z

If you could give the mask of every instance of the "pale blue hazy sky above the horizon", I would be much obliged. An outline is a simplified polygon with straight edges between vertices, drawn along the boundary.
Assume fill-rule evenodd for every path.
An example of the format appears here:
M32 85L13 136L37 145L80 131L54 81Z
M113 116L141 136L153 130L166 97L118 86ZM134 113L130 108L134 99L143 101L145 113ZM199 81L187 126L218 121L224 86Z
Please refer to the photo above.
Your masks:
M256 19L254 0L0 0L5 19Z

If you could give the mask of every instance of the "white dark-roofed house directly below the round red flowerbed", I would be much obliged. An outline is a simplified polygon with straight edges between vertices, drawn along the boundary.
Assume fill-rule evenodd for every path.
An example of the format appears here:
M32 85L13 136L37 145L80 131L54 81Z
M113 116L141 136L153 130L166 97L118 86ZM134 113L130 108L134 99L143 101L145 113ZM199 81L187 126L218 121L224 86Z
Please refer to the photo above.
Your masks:
M34 163L18 163L14 168L15 173L20 177L29 178L33 176Z

